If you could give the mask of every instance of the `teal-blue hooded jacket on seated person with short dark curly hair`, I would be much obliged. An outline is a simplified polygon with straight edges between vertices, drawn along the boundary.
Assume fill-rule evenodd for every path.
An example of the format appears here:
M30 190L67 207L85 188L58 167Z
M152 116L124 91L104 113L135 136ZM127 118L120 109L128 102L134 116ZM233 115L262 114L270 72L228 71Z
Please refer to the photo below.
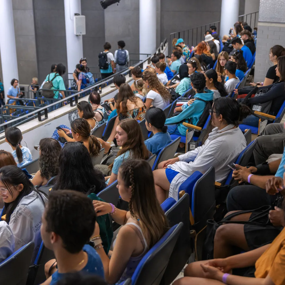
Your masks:
M197 93L195 97L203 99L205 101L212 101L214 92L205 89L206 93ZM184 104L185 105L185 104ZM186 104L187 105L187 104ZM184 106L185 107L185 106ZM186 136L187 128L183 126L183 122L189 122L191 119L192 125L196 125L206 107L206 103L201 100L195 100L193 104L187 106L179 115L166 119L165 124L178 124L178 131L181 135Z

